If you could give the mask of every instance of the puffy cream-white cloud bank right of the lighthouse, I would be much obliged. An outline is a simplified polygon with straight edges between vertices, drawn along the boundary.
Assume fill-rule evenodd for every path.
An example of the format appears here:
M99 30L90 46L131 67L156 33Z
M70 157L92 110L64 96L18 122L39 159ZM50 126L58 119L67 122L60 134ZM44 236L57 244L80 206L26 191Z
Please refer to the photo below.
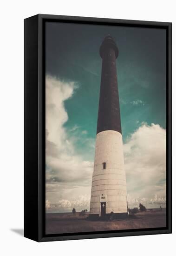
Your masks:
M166 130L143 123L124 144L128 200L165 202ZM153 197L155 196L155 199ZM160 198L159 200L156 200Z

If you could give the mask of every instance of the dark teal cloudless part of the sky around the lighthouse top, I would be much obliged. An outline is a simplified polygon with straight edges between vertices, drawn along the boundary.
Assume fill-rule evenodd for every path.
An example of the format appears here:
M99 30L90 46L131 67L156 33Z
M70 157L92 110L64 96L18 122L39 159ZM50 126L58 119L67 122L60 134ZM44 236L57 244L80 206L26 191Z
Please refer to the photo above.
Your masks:
M46 74L78 85L65 101L69 135L87 131L75 141L77 153L93 161L101 78L99 47L107 34L117 43L117 80L124 142L142 122L166 128L166 31L155 28L46 23Z

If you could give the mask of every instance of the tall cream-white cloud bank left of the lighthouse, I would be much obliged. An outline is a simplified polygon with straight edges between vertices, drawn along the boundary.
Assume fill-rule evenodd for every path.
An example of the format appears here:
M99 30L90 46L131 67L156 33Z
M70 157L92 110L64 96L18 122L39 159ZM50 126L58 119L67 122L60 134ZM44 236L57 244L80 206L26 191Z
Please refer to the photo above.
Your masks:
M75 153L74 139L64 127L69 118L64 102L77 88L75 82L46 76L46 209L81 206L80 196L90 194L93 162ZM70 134L78 128L75 125Z

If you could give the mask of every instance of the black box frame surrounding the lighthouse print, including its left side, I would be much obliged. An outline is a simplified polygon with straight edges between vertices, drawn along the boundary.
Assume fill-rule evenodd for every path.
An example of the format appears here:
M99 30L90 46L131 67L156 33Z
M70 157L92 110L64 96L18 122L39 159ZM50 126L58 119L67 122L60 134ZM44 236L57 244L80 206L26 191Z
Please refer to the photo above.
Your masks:
M45 22L164 28L167 33L167 227L45 235ZM172 232L172 23L38 14L24 20L24 236L38 242Z

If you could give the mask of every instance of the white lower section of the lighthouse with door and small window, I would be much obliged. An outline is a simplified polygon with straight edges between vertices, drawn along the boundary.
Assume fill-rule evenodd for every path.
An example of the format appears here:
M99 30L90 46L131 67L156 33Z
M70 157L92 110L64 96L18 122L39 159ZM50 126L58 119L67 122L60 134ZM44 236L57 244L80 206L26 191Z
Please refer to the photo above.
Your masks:
M96 138L90 214L102 216L101 211L128 212L122 135L112 130Z

